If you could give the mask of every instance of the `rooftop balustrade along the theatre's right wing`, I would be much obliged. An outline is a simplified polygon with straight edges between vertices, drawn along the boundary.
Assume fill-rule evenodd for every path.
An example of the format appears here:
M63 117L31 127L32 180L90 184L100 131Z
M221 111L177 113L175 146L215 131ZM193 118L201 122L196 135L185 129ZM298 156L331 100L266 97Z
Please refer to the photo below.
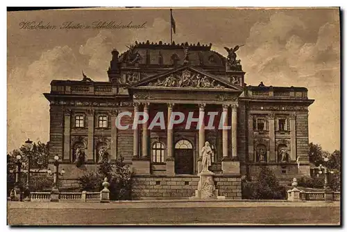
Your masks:
M246 89L246 97L308 99L307 89L304 87L254 87L251 85Z

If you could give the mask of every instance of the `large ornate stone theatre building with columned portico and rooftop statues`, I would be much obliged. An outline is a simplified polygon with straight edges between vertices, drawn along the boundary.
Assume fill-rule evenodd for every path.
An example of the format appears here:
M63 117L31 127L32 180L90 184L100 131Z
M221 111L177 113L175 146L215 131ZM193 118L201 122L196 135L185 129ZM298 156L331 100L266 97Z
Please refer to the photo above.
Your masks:
M213 150L214 184L230 199L241 199L241 179L254 179L262 166L282 184L310 175L307 107L314 100L307 89L246 85L237 49L226 48L223 57L211 46L135 42L125 53L112 51L104 82L85 75L53 80L51 92L44 93L50 102L49 154L60 157L62 184L74 186L101 159L121 156L133 170L135 199L187 198L197 188L206 141ZM149 121L133 129L139 112L149 114ZM184 117L170 128L174 112ZM151 125L158 113L165 127ZM203 123L189 127L189 116ZM76 165L81 154L84 160Z

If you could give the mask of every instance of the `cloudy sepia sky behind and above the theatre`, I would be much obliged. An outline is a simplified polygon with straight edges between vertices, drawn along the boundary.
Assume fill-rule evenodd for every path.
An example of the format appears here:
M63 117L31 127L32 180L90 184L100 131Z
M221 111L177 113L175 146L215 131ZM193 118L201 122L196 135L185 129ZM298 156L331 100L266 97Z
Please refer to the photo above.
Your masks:
M173 10L177 43L242 45L238 58L245 82L307 87L315 100L309 107L309 140L323 150L340 149L340 25L338 8L178 9ZM25 22L57 26L28 30ZM144 24L140 29L64 29L62 24L94 21ZM51 80L81 80L83 70L96 81L107 81L113 48L146 40L169 42L170 11L38 10L8 12L8 151L26 139L49 141Z

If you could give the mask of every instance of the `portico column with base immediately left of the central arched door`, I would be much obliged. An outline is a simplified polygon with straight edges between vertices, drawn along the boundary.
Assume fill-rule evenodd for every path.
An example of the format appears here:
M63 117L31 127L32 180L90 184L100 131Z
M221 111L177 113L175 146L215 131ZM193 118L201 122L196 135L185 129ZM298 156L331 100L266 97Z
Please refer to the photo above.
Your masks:
M172 109L174 103L167 104L167 175L175 175L175 159L174 159L174 128L169 129Z

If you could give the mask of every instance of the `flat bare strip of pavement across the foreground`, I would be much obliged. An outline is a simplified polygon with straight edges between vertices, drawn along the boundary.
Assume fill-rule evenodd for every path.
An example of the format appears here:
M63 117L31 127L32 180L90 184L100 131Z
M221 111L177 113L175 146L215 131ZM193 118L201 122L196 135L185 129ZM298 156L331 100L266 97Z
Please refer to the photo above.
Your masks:
M134 201L9 202L10 225L325 224L338 225L340 202Z

